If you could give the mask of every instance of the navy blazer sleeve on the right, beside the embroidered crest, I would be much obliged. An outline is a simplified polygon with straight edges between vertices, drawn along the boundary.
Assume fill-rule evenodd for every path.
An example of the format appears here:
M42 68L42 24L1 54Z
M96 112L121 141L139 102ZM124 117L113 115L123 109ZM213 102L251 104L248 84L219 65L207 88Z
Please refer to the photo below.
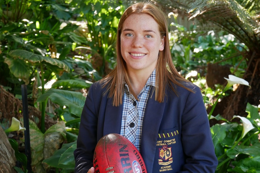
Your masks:
M218 164L207 112L198 87L190 92L182 115L182 146L186 162L182 173L214 173Z

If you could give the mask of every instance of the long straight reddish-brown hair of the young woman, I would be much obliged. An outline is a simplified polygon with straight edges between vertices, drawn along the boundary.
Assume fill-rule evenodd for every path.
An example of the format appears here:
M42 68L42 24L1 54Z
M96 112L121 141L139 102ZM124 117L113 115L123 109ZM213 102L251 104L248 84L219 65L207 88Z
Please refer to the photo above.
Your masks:
M161 37L165 37L164 50L159 51L156 65L155 100L160 103L163 102L166 95L166 88L169 87L176 95L178 95L174 87L175 85L179 85L189 91L192 91L190 88L183 85L183 83L189 81L183 78L173 65L168 37L168 23L165 14L155 5L151 4L151 2L138 2L128 7L120 18L116 42L117 65L106 77L100 80L102 86L106 88L106 92L109 92L108 97L113 97L113 106L119 106L122 104L125 83L128 85L130 93L132 93L135 99L138 100L132 86L130 85L130 80L126 71L126 63L122 57L120 49L120 36L123 23L125 19L133 13L144 13L151 15L158 23Z

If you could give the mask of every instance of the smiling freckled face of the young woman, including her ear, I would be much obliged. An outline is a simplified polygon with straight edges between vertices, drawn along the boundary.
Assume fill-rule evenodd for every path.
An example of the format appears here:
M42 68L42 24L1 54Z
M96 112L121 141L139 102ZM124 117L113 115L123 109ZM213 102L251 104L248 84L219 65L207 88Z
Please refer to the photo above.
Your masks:
M159 51L164 49L164 37L160 36L154 18L149 14L131 14L123 23L120 39L128 73L141 70L151 74Z

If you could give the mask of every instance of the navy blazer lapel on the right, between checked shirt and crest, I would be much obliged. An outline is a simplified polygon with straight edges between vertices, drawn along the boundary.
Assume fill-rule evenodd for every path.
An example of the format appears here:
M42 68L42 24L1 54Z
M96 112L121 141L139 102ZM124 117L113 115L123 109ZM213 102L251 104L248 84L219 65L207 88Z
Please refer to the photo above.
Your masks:
M153 91L153 88L151 91ZM149 96L144 114L140 150L141 156L143 157L146 165L147 172L153 171L154 156L156 155L157 136L166 103L166 97L163 103L159 103L155 101L154 92L150 94L152 94L152 97L150 98Z

